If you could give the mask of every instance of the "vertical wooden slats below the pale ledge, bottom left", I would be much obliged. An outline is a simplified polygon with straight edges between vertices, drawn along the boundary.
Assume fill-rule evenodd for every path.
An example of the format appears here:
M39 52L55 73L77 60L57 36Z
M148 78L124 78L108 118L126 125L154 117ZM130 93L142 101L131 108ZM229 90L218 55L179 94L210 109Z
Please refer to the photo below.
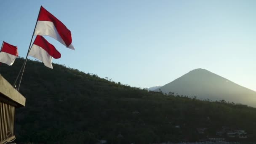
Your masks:
M14 114L14 106L0 101L0 144L15 139Z

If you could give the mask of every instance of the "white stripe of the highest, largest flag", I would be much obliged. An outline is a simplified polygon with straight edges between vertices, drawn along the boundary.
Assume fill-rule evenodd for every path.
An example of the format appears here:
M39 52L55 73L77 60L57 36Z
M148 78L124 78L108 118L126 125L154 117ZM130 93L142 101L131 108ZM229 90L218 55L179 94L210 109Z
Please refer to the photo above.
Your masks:
M50 37L55 38L63 45L66 45L64 43L64 40L62 40L61 36L59 35L59 32L57 31L56 27L54 26L53 22L51 21L37 21L37 26L35 28L34 35L48 35ZM67 48L70 48L72 50L75 50L72 44L66 45Z

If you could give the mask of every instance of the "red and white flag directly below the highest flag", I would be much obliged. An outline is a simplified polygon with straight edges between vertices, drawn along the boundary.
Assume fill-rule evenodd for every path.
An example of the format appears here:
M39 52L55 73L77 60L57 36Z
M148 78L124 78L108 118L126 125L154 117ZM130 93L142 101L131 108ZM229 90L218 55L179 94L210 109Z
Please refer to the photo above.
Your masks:
M61 57L61 53L59 53L51 43L45 40L43 36L37 35L29 51L29 56L39 59L46 67L52 69L52 59L59 59Z

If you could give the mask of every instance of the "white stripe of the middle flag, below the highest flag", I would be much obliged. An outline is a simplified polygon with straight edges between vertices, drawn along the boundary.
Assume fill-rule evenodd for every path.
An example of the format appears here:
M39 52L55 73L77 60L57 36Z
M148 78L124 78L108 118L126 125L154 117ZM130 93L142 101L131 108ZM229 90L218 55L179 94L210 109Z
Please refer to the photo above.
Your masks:
M43 48L41 48L38 45L33 44L30 51L29 51L29 56L33 56L36 59L39 59L42 61L46 67L53 68L53 65L51 64L51 61L53 59L52 56L47 53Z

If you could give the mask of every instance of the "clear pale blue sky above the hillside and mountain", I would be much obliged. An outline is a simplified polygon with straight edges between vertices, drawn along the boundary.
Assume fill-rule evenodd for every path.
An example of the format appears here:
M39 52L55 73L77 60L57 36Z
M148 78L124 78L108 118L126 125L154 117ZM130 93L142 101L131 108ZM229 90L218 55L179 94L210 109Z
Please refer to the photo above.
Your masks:
M76 48L47 37L62 54L54 63L141 88L204 68L256 91L255 0L1 0L0 40L21 57L40 5Z

